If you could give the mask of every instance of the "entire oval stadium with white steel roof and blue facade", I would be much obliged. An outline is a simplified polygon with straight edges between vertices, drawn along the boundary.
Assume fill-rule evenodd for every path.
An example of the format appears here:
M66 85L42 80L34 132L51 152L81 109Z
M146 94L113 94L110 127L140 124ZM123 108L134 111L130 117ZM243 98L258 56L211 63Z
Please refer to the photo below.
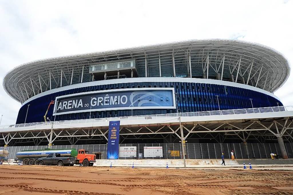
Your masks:
M231 148L243 158L273 151L292 158L293 111L274 95L289 73L278 51L227 39L36 60L4 77L21 108L16 124L0 127L0 144L18 146L14 153L48 144L92 151L97 144L100 152L109 121L119 120L120 144L165 144L162 158L175 158L167 144L194 158Z

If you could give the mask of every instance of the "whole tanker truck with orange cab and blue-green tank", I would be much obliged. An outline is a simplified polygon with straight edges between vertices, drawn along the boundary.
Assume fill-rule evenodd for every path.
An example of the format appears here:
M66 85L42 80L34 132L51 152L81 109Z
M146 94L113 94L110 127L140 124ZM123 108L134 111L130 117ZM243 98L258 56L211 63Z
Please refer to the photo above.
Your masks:
M31 151L21 151L16 153L16 161L23 161L23 165L37 165L38 159L43 157L48 157L52 153L57 153L60 157L74 157L75 164L83 166L93 166L96 161L96 155L88 154L88 151L84 149L45 149L45 150L31 150ZM59 155L60 154L60 155ZM46 163L43 163L44 165Z

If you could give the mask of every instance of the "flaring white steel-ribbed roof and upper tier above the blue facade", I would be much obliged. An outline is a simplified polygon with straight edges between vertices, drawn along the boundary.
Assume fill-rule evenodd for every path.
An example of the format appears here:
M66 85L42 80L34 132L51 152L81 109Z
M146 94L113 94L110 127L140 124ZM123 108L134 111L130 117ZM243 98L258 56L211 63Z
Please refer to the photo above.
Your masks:
M124 77L207 78L274 92L289 72L287 59L267 46L206 39L36 60L8 72L3 86L21 103L50 89Z

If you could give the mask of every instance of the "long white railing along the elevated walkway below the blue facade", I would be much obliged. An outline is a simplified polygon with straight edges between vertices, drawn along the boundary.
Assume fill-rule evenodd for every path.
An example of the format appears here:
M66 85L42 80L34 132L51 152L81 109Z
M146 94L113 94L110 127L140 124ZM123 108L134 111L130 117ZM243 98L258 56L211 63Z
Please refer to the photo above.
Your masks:
M157 114L157 115L139 115L139 116L123 116L123 117L110 117L110 118L94 118L94 119L78 119L78 120L62 120L56 121L58 124L71 124L71 123L89 123L89 122L106 122L111 120L149 120L160 118L178 118L181 117L195 117L195 116L215 116L215 115L235 115L235 114L253 114L253 113L271 113L293 111L293 106L276 106L265 108L244 108L234 110L216 110L216 111L202 111L202 112L187 112L187 113L172 113L172 114ZM0 129L17 128L17 127L39 127L43 125L50 125L51 122L32 122L14 125L0 126Z

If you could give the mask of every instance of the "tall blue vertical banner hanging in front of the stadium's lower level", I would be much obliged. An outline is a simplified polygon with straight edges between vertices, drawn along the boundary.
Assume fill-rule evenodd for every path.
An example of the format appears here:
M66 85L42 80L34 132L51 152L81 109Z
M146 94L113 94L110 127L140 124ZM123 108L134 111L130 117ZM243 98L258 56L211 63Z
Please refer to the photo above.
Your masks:
M109 122L107 159L119 158L119 130L120 130L119 120Z

